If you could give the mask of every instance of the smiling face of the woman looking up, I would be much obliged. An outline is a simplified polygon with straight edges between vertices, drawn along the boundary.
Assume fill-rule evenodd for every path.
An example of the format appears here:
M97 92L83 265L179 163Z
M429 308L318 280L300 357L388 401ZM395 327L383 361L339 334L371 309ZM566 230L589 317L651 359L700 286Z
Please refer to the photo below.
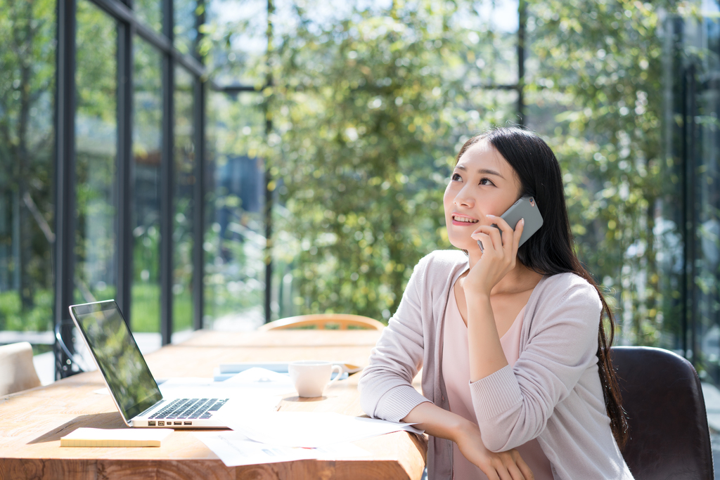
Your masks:
M480 253L470 234L480 225L495 223L485 215L502 215L520 194L520 179L503 155L486 140L472 145L458 160L445 189L443 204L450 243Z

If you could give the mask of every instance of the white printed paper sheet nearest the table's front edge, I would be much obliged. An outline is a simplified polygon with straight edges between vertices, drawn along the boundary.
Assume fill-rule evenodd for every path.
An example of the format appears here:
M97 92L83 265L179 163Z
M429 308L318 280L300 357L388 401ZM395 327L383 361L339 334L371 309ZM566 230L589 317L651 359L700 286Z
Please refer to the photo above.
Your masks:
M225 466L278 463L308 458L339 460L370 455L367 450L352 443L328 445L324 448L292 448L258 443L238 432L199 432L194 435L220 457Z

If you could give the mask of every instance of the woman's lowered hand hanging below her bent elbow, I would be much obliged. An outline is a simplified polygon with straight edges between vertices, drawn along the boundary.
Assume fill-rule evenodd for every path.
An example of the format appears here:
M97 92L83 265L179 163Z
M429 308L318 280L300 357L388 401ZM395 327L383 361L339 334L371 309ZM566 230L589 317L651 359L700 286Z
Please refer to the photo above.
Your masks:
M474 463L489 480L533 480L533 472L518 453L512 449L506 452L491 452L485 448L480 437L480 428L472 422L459 430L453 439L462 454Z

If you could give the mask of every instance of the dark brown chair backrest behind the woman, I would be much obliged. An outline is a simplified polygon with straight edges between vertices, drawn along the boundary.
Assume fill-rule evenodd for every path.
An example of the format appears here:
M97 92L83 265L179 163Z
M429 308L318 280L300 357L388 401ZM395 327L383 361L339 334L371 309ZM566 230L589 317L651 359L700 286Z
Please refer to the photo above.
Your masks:
M703 391L695 368L668 350L613 347L630 438L623 456L636 480L712 480Z

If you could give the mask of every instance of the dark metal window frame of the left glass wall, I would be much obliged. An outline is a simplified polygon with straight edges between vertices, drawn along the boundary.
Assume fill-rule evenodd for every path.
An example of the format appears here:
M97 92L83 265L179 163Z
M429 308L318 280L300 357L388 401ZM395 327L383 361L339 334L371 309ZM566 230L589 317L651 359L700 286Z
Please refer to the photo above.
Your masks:
M68 307L73 304L76 230L76 32L77 1L57 0L56 28L56 91L55 91L55 232L53 247L55 268L55 302L53 322L60 327L60 339L72 351L72 329L68 325ZM116 21L117 25L117 159L115 201L117 219L117 303L131 325L130 301L132 287L132 212L134 208L134 172L132 160L132 78L134 35L138 35L163 55L163 143L161 157L161 337L163 345L172 336L172 230L174 218L174 68L184 67L194 77L194 142L196 148L196 187L194 209L193 253L193 327L202 328L204 304L202 279L204 262L204 124L206 122L204 92L207 82L202 58L183 55L173 46L173 0L163 0L163 32L158 33L140 22L132 11L132 0L90 1ZM198 0L204 5L204 0ZM197 19L198 22L203 19ZM199 36L199 32L198 32ZM197 48L196 48L197 50ZM63 323L64 322L64 323ZM73 374L69 358L55 343L55 378Z

